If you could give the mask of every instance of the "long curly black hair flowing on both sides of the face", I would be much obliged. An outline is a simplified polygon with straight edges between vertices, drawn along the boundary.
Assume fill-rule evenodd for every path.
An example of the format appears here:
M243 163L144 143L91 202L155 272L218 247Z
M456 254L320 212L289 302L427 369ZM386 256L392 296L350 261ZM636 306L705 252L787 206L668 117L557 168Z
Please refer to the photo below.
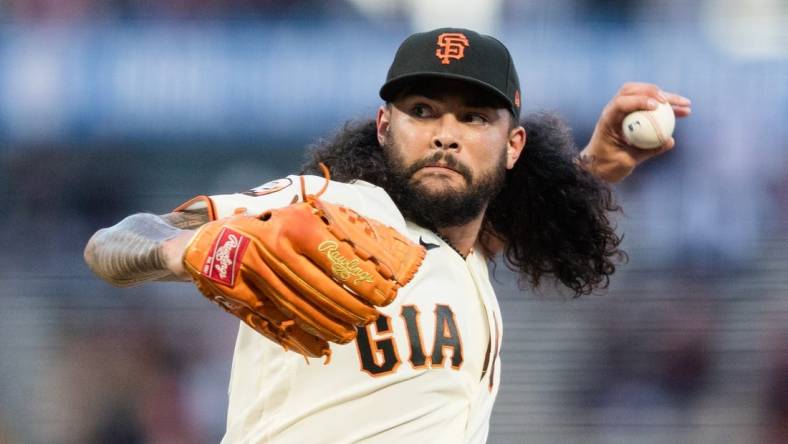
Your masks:
M620 211L610 187L578 162L566 123L534 113L520 124L527 142L506 184L490 201L479 240L488 255L501 252L509 268L531 286L554 278L575 296L606 288L616 263L626 260L610 218ZM361 179L386 189L386 154L374 121L349 122L332 138L312 145L302 174Z

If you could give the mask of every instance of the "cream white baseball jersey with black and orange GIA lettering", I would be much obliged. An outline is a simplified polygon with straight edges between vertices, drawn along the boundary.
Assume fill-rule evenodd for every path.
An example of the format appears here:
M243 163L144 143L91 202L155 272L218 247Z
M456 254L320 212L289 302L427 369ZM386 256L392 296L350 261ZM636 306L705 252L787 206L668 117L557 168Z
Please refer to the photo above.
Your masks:
M306 176L307 192L325 179ZM195 198L212 218L289 205L298 176L242 194ZM406 222L386 192L331 182L321 199L377 219L427 248L413 280L331 361L307 360L241 323L223 443L483 443L500 378L501 315L485 258L463 259Z

